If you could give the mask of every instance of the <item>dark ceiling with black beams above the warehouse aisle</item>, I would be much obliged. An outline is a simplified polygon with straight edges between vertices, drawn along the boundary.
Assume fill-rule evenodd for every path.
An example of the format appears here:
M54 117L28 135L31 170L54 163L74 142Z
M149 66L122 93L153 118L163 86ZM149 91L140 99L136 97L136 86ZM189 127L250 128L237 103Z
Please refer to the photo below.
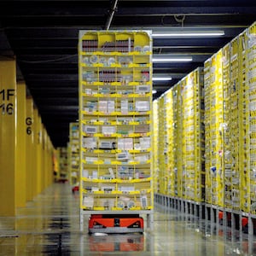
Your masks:
M117 7L115 8L115 2ZM113 18L112 18L113 17ZM256 1L0 1L0 55L16 58L55 147L67 145L69 123L78 119L79 30L222 30L224 36L154 38L154 54L191 56L190 62L154 64L160 96L256 20Z

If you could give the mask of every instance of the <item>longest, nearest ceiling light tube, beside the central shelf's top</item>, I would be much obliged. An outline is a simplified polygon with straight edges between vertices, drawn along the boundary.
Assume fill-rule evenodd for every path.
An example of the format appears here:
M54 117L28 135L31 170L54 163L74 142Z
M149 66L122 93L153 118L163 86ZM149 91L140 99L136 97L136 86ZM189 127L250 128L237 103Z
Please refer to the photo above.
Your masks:
M179 31L179 32L154 32L153 38L179 38L179 37L220 37L224 31Z

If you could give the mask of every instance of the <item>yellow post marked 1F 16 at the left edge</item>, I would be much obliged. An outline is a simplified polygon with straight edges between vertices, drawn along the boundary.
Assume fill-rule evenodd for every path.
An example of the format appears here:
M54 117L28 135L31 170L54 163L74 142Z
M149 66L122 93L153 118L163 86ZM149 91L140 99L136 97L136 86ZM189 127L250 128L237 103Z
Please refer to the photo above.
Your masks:
M16 64L0 61L0 216L15 216Z

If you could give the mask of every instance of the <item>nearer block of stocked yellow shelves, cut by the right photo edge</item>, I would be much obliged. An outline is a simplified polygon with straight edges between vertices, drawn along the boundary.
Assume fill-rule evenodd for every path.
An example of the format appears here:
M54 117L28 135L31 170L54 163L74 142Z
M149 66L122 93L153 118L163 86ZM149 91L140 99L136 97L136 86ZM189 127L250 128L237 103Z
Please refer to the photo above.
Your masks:
M255 214L255 25L205 62L206 201Z

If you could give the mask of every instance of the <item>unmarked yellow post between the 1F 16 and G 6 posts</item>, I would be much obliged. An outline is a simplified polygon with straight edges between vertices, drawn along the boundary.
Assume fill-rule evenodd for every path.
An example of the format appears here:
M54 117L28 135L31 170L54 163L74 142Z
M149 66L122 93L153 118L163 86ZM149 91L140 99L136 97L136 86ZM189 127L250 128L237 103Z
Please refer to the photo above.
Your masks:
M15 197L17 207L26 205L26 84L17 84L17 157Z

